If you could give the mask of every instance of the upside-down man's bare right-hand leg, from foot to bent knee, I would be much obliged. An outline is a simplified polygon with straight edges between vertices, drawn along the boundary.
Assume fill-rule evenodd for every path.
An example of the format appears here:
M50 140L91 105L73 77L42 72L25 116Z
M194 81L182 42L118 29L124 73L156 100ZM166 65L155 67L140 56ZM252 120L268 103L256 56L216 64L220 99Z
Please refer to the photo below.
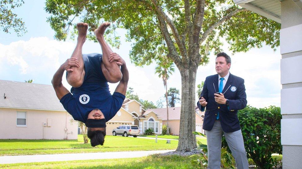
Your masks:
M94 34L102 48L103 60L101 63L101 68L103 74L108 82L117 83L122 79L122 73L119 65L116 64L117 61L109 61L110 54L112 54L113 51L104 39L104 33L108 26L110 26L109 22L102 23L99 28L94 30Z

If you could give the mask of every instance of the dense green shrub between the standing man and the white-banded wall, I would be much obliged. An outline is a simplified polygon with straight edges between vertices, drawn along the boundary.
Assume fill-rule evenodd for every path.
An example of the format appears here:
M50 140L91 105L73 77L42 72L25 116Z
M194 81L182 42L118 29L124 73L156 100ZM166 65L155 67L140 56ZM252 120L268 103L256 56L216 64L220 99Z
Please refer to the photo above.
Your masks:
M281 112L280 107L269 108L246 107L238 111L238 119L244 139L248 158L251 158L259 168L272 168L278 160L272 158L272 153L282 154L281 146ZM222 147L226 147L225 138ZM228 149L229 152L231 152Z

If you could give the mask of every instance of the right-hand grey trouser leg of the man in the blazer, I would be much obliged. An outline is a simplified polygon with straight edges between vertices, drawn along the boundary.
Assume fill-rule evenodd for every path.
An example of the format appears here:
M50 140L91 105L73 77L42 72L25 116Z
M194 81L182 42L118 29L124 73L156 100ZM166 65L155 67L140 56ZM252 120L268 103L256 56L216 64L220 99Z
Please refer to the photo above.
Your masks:
M230 133L224 132L224 136L235 158L236 167L238 169L248 169L248 158L246 156L241 130Z

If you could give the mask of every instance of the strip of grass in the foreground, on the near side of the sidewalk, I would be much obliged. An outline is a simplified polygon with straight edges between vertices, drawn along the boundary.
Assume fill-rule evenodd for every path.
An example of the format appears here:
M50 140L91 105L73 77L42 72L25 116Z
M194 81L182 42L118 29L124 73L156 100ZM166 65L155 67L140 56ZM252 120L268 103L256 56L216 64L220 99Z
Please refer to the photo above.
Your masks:
M0 164L0 168L195 168L188 157L149 155L142 158Z

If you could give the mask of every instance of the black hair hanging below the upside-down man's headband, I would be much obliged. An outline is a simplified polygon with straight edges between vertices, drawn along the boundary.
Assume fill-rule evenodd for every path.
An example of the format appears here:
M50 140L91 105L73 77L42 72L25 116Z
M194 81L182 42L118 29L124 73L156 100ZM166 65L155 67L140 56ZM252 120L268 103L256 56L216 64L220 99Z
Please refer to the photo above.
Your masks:
M103 145L106 136L106 127L94 131L92 131L91 128L88 127L87 136L90 139L90 144L92 147Z

